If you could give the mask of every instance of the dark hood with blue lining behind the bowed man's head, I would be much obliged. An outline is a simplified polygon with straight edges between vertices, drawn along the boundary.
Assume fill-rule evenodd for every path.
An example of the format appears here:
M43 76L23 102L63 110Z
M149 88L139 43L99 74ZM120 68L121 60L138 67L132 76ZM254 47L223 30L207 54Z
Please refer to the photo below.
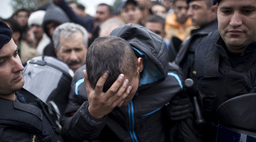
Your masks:
M165 41L150 30L137 24L126 24L114 29L110 35L125 39L137 57L143 59L140 86L159 83L167 77L168 55Z

